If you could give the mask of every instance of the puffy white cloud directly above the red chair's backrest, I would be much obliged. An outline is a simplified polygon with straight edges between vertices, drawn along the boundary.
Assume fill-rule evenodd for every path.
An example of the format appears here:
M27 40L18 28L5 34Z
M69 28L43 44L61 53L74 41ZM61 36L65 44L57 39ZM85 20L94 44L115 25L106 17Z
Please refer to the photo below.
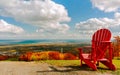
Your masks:
M109 19L103 18L103 19L97 19L97 18L91 18L87 21L83 21L76 24L76 29L79 30L80 33L86 33L86 34L92 34L95 30L103 28L103 27L109 27L109 24L107 22L110 22Z

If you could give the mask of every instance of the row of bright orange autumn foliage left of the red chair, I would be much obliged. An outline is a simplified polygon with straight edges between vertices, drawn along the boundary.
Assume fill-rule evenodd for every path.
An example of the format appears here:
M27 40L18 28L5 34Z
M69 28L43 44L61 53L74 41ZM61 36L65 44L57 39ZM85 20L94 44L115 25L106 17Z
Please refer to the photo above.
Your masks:
M76 56L70 53L59 53L57 51L46 52L27 52L19 57L19 60L38 61L38 60L75 60Z

